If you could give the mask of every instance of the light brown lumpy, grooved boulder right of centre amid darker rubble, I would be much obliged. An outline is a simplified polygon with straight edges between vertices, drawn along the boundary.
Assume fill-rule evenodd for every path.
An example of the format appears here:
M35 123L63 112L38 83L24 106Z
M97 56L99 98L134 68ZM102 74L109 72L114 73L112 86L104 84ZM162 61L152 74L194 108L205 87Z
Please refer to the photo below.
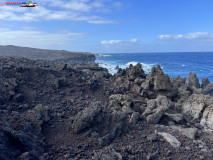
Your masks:
M157 124L164 113L170 107L170 100L166 96L158 96L156 100L150 100L147 102L147 108L143 113L143 117L146 117L148 123Z

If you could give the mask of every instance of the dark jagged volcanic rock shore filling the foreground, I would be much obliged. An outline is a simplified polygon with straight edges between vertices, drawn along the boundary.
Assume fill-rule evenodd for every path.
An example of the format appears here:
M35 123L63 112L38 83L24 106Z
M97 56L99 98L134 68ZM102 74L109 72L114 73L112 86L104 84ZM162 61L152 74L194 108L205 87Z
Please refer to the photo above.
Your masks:
M208 78L27 58L0 58L0 159L213 158Z

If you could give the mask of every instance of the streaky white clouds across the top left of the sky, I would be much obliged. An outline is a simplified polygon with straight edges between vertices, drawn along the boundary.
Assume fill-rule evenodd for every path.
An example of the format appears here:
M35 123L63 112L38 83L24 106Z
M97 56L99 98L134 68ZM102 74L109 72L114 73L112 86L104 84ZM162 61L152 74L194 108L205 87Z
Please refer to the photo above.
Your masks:
M99 12L115 9L115 2L105 0L43 0L38 7L25 8L17 6L0 7L0 20L32 22L41 20L86 21L93 24L114 23L99 16ZM118 5L117 5L118 7Z

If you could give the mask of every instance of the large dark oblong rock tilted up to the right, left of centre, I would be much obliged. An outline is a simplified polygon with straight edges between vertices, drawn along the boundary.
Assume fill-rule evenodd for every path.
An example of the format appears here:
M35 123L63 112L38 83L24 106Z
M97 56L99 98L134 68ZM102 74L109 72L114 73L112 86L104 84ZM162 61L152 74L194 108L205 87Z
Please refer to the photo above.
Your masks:
M85 110L79 112L72 124L73 132L79 133L85 128L90 127L94 122L100 122L100 113L102 111L102 105L100 102L93 102Z

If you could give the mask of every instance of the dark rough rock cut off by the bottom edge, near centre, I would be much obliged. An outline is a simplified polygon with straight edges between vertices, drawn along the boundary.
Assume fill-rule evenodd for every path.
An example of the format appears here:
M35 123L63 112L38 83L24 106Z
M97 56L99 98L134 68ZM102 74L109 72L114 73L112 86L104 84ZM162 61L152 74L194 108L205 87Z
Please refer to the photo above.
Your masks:
M122 160L123 157L120 153L116 152L115 149L110 146L104 149L104 151L93 151L93 160Z

